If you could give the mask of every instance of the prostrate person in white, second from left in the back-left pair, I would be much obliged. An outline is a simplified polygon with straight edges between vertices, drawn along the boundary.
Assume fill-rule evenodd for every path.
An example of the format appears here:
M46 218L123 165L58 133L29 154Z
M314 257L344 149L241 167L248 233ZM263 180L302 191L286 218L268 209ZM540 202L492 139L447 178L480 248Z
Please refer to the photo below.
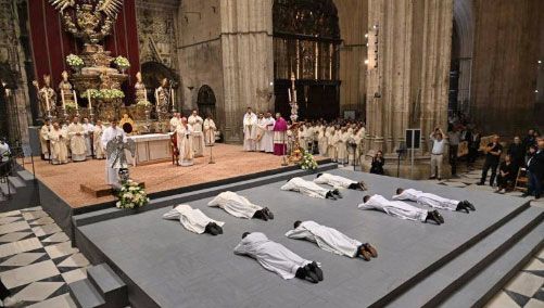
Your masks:
M267 221L274 219L274 214L268 207L251 203L246 197L226 191L214 197L207 206L217 206L238 218L257 218Z

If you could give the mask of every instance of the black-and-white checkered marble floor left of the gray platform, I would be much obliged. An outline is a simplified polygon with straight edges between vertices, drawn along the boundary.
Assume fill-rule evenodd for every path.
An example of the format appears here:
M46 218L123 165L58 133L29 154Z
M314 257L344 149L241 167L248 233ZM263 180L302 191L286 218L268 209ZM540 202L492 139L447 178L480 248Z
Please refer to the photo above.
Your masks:
M41 207L0 213L0 278L17 307L76 307L67 284L85 279L87 266Z

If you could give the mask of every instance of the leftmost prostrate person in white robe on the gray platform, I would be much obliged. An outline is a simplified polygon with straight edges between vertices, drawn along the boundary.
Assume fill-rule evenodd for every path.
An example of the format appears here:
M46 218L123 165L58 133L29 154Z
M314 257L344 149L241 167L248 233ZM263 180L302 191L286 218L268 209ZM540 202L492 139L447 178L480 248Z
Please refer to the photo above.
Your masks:
M180 204L163 215L164 219L179 220L185 229L202 234L223 234L223 221L213 220L198 208L192 208L188 204Z

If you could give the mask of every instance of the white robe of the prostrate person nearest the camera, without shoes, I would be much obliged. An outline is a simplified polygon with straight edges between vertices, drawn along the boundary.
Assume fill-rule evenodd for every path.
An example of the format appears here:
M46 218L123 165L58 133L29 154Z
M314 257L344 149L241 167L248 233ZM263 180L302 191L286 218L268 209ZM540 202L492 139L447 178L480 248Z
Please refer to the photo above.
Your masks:
M283 279L293 279L301 267L312 264L289 251L286 246L273 242L264 233L248 234L235 247L235 254L248 255L257 260L265 269Z

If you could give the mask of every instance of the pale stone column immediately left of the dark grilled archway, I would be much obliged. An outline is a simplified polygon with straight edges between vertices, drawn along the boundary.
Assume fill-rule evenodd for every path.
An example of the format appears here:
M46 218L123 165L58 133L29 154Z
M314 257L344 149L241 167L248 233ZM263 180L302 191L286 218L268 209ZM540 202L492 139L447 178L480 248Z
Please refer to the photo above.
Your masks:
M274 108L273 0L220 1L225 138L242 142L248 106Z

